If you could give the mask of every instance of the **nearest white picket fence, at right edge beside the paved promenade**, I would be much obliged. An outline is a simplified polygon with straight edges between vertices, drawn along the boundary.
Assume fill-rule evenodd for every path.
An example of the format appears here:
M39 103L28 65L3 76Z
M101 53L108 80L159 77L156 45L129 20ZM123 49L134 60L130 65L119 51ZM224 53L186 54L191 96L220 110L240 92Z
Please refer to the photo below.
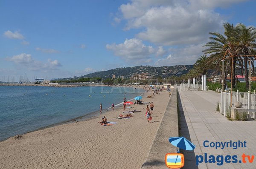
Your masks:
M220 103L220 112L227 116L227 111L231 107L235 106L236 102L241 102L244 109L255 109L256 108L256 93L254 92L230 92L221 90L221 103ZM248 112L251 118L255 119L255 112Z

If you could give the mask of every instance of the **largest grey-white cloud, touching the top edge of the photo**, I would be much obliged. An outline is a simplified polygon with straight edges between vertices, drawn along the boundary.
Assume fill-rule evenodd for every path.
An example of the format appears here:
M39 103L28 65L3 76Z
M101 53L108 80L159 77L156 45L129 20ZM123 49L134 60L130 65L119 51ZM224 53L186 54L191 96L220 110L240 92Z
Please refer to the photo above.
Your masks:
M208 40L225 22L216 7L247 0L131 0L119 11L127 21L125 30L138 29L136 37L156 45L184 45Z

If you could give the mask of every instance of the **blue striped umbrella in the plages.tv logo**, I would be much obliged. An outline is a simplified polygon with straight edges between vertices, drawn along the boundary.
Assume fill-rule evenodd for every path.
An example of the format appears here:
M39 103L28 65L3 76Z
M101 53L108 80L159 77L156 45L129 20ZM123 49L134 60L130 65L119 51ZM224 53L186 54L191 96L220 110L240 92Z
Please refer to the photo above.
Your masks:
M189 140L187 140L185 137L170 137L169 142L178 147L180 152L180 149L184 150L193 150L195 149L195 145L191 143Z

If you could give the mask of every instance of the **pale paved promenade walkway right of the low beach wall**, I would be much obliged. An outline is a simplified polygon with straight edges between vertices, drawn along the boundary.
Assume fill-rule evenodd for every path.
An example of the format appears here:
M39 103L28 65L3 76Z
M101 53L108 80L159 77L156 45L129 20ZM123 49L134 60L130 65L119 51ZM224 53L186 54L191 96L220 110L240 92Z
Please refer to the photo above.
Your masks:
M230 121L219 112L215 112L220 94L213 91L179 91L178 104L180 110L180 134L195 144L194 151L184 151L185 166L183 169L256 169L256 158L253 163L216 163L195 164L196 155L207 153L214 155L256 155L256 121ZM241 142L246 141L247 148L212 148L204 147L204 140L209 142ZM208 143L209 144L209 143ZM232 161L232 159L231 159Z

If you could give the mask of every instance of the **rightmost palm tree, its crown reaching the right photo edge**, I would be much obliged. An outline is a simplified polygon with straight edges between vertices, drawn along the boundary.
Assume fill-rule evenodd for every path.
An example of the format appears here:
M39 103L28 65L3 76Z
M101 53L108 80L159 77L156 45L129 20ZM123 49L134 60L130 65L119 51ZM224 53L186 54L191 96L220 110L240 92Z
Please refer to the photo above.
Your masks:
M238 32L237 40L239 42L238 52L240 55L244 55L244 76L245 76L246 89L248 89L249 80L248 80L248 68L247 68L248 57L247 56L256 53L255 51L256 29L252 26L250 26L249 28L246 28L244 24L240 23L238 26L236 26L236 30Z

